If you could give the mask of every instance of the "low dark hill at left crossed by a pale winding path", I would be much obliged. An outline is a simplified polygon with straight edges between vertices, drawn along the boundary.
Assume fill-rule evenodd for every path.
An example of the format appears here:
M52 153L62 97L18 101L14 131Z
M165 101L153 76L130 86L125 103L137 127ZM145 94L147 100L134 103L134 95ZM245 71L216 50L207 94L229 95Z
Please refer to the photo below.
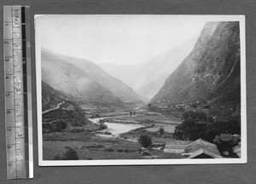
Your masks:
M61 132L72 127L93 124L75 101L42 82L43 133Z

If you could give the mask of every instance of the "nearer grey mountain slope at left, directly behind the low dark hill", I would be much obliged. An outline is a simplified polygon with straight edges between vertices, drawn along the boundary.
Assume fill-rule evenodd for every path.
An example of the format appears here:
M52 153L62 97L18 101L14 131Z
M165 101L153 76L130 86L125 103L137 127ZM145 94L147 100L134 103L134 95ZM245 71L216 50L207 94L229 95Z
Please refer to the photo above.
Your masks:
M43 85L48 84L52 89L61 91L72 100L86 101L102 106L125 106L125 103L113 95L110 90L96 83L78 67L61 60L44 49L41 60Z

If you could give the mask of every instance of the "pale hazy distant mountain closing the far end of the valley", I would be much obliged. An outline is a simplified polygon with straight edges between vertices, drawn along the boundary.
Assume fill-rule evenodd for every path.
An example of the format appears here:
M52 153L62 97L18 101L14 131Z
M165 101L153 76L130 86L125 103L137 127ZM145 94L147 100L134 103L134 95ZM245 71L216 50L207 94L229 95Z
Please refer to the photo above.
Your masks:
M195 46L195 41L196 39L190 39L146 63L137 65L104 63L100 66L113 77L131 86L138 94L151 99L163 86L166 78L189 55Z

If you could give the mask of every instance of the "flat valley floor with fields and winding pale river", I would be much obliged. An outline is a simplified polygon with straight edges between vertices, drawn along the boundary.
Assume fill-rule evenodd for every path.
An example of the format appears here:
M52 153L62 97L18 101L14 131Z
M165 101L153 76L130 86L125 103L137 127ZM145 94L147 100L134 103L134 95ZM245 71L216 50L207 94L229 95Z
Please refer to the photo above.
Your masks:
M53 160L56 155L61 155L67 147L72 147L78 152L79 159L140 159L140 158L182 158L179 154L165 153L163 145L174 141L172 133L178 118L170 118L137 109L137 114L129 111L98 112L100 117L92 118L96 124L112 124L112 129L102 129L91 132L55 132L43 134L43 158ZM91 116L91 115L90 115ZM90 118L90 117L88 117ZM101 123L99 120L101 119ZM97 121L96 121L97 120ZM117 125L136 125L134 129L115 129ZM118 126L119 127L119 126ZM124 126L121 126L124 127ZM159 129L165 131L160 134ZM83 129L83 127L81 127ZM140 135L148 135L153 141L153 147L144 149L137 141ZM155 146L155 147L154 147ZM143 152L149 153L143 157Z

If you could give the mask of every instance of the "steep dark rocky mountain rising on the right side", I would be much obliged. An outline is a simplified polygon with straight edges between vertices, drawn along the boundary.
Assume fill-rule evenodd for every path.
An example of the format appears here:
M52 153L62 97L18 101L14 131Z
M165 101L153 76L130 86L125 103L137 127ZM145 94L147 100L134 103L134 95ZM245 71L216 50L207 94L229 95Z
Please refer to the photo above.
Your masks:
M207 22L192 52L166 79L153 103L240 105L239 22Z

